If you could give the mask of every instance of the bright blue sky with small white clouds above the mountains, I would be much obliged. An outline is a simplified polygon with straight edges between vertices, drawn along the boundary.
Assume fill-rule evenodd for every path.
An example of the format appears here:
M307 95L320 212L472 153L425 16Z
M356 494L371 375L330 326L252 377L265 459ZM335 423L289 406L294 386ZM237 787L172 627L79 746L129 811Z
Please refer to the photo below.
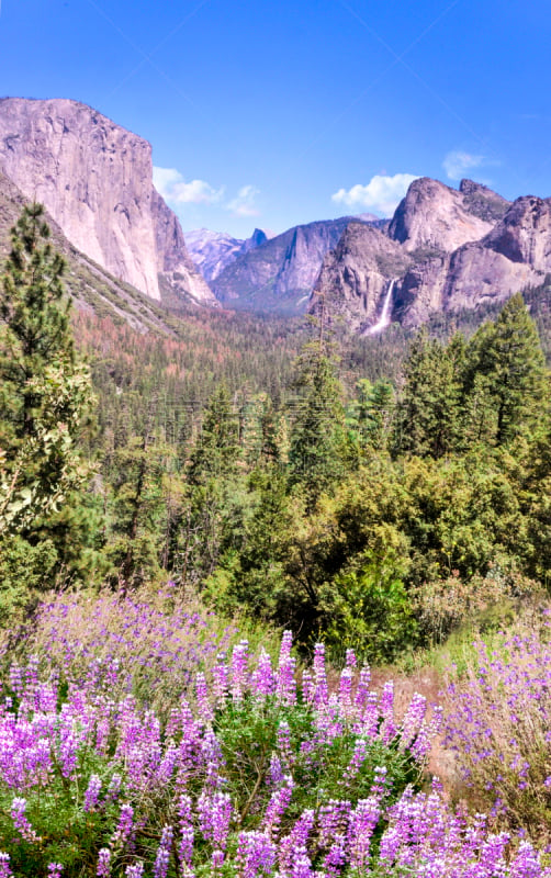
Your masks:
M0 94L91 104L184 229L245 237L415 176L551 195L550 45L543 0L1 0Z

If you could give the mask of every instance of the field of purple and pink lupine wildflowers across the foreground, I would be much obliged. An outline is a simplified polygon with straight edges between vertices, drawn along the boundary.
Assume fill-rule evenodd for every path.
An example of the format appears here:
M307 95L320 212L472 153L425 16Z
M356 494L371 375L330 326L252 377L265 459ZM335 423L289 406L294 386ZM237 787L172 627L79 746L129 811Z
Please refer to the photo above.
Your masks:
M417 694L397 716L392 682L373 690L351 651L329 685L323 644L297 665L290 632L271 655L169 589L58 596L33 630L3 655L2 878L551 876L541 643L481 655L454 713ZM503 758L492 710L505 736L515 711L524 723ZM495 786L487 815L428 776L443 724L471 787L491 801ZM509 804L519 831L499 824Z

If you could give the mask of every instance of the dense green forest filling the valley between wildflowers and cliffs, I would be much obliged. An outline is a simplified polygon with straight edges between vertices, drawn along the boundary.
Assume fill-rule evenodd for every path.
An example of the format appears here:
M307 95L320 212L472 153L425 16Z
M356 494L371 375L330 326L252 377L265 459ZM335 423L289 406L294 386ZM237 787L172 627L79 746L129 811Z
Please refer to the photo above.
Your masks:
M26 209L2 277L4 620L170 578L383 662L547 587L547 288L371 339L206 311L139 335L71 312L47 238Z

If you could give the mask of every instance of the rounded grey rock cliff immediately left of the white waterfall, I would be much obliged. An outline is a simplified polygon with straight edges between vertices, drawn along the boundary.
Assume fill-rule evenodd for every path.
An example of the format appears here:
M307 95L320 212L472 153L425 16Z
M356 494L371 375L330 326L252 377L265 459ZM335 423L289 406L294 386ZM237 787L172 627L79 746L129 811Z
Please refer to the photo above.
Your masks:
M374 325L389 285L404 274L411 257L400 244L373 226L351 222L335 250L324 259L310 311L322 308L330 320L341 318L356 333Z

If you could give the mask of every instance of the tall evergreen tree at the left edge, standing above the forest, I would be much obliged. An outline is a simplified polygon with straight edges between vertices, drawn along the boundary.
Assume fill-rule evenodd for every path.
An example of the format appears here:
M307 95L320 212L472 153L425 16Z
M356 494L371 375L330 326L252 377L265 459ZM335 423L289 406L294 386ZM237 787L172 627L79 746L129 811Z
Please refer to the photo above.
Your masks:
M91 404L87 369L78 363L70 303L41 205L26 206L11 230L0 281L0 579L4 595L70 572L79 553L66 536L90 534L70 509L87 477L78 442ZM78 516L77 516L78 517ZM50 525L55 524L50 527ZM82 547L83 548L83 547ZM78 564L77 564L78 566ZM24 572L25 578L22 579Z

